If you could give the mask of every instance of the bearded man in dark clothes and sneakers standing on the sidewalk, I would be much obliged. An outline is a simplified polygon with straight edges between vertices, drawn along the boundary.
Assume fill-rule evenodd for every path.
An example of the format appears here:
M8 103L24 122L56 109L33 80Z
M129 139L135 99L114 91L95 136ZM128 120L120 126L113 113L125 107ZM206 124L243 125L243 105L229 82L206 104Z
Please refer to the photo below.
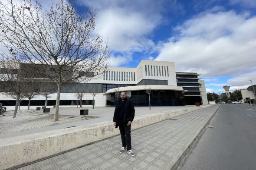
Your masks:
M127 147L127 154L135 156L135 153L131 151L131 122L134 119L135 109L131 101L126 98L125 92L121 92L120 100L115 107L114 113L114 126L119 126L122 148L119 153L123 153Z

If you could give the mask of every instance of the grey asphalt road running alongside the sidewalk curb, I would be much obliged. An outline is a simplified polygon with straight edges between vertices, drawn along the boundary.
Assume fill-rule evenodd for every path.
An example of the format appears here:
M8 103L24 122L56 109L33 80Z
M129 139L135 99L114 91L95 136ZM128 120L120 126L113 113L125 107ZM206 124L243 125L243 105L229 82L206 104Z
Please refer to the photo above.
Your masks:
M222 104L181 170L256 170L256 106Z

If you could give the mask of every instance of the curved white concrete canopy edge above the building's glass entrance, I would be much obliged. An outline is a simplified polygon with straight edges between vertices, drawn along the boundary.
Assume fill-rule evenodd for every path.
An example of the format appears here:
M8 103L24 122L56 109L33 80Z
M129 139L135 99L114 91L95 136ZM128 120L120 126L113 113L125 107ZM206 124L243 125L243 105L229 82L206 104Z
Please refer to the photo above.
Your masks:
M120 87L120 91L139 91L139 90L145 90L145 87L150 87L151 90L172 90L172 91L183 91L187 92L187 90L184 90L182 87L179 86L173 86L173 85L134 85L134 86L127 86L127 87ZM117 88L109 89L107 92L105 92L103 95L111 94L117 92Z

